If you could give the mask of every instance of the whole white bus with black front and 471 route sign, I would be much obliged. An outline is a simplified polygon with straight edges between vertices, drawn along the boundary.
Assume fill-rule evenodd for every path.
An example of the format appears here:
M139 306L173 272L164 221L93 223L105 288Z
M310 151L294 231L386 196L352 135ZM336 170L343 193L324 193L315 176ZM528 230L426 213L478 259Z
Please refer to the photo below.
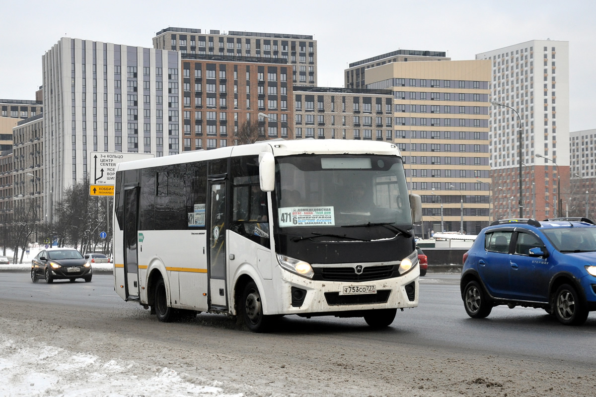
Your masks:
M396 145L269 140L121 162L114 287L160 321L286 314L392 323L418 305L412 221Z

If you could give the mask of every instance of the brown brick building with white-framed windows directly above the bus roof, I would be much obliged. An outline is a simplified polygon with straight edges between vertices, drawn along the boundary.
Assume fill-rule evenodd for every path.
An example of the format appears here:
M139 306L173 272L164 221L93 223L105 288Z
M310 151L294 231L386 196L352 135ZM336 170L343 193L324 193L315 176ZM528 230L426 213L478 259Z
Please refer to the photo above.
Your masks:
M182 54L184 151L237 145L239 130L250 124L258 130L260 139L293 137L288 131L293 118L293 83L290 65L285 61L246 61L250 58L229 61L229 57L193 60L192 57ZM259 113L268 117L259 117Z

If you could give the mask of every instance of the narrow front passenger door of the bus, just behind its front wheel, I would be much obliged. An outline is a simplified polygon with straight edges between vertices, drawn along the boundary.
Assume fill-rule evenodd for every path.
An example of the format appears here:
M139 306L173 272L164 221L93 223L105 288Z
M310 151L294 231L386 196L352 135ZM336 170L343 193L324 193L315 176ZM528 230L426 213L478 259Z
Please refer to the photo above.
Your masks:
M226 181L209 180L209 308L225 310L226 297Z

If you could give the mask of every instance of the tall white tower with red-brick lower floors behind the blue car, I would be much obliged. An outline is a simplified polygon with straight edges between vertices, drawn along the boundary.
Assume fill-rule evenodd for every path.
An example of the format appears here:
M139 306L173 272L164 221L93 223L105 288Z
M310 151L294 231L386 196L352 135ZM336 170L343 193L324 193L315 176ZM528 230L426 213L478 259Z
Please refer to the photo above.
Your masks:
M569 42L531 40L477 54L476 59L488 60L492 67L489 90L496 103L490 108L489 125L495 218L517 217L520 212L541 220L563 216L558 208L564 210L570 179Z

